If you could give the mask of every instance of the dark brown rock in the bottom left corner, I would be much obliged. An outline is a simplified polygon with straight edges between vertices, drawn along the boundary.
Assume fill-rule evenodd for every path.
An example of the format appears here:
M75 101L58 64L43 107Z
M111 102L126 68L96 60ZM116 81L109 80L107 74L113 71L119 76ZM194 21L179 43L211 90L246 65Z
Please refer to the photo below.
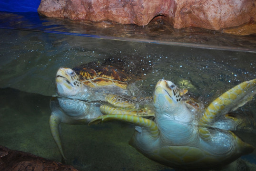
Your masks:
M78 171L72 166L0 146L0 171Z

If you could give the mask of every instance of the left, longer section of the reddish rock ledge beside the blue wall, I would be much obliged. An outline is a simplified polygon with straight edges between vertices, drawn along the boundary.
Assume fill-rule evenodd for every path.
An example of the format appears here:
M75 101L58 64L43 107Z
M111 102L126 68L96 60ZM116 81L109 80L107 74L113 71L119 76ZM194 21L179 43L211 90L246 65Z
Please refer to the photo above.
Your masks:
M169 6L170 0L41 0L38 12L47 17L147 25L167 13Z

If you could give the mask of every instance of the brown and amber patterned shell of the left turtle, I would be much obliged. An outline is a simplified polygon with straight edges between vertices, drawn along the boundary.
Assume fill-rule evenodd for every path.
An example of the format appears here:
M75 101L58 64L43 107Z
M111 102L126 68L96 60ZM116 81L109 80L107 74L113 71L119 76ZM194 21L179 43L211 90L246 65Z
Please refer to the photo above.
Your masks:
M96 69L77 66L73 70L79 76L80 81L90 87L117 85L126 89L131 79L128 74L114 66L98 66Z

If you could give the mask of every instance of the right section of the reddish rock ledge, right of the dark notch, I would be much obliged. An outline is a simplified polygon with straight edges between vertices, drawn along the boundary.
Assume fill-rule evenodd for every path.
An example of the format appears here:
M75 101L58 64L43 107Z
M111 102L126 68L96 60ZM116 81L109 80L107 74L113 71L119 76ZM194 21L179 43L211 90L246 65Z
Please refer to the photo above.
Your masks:
M255 19L255 0L177 0L174 28L218 30Z

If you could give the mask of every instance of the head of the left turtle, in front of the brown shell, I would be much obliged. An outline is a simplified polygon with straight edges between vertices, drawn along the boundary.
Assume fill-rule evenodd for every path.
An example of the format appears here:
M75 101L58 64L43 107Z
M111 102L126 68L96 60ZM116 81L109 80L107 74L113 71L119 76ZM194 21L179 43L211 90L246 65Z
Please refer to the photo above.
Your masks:
M59 68L55 83L58 94L61 96L77 95L82 89L79 76L70 68Z

